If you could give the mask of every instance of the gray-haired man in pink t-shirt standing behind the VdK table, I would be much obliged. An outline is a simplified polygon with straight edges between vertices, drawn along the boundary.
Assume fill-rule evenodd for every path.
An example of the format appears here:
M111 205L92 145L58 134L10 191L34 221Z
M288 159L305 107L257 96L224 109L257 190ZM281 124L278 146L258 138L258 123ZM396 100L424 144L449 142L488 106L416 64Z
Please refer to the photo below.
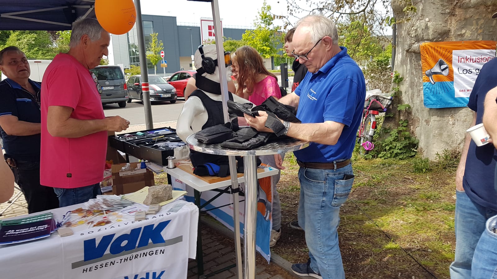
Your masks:
M107 56L109 42L96 19L77 19L69 52L58 54L43 75L40 184L54 188L60 207L101 194L107 131L129 127L122 117L105 118L89 71Z

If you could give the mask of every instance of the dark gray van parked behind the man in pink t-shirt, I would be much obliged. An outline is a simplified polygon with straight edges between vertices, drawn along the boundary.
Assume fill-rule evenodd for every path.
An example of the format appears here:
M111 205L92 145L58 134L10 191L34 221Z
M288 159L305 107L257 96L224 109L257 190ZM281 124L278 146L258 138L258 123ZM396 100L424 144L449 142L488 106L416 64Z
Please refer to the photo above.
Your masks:
M90 70L96 75L98 84L102 88L100 98L102 104L118 103L119 107L126 107L128 88L123 71L119 66L97 66Z

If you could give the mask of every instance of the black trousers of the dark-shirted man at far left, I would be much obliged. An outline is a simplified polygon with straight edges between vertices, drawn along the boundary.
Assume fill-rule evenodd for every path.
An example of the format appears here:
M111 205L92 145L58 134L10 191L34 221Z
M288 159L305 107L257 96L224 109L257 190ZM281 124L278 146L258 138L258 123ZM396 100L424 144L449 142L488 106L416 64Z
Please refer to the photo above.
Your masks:
M40 185L40 162L16 161L16 167L10 168L14 173L15 183L19 185L26 202L28 212L56 209L59 200L52 187Z

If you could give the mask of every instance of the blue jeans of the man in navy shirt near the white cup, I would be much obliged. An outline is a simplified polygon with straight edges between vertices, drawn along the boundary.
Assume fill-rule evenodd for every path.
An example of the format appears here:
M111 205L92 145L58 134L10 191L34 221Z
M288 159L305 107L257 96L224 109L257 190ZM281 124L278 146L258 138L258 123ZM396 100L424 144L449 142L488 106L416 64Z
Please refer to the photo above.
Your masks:
M496 215L495 210L472 202L464 191L456 191L456 254L450 265L451 279L471 278L471 266L476 245L485 230L485 222Z

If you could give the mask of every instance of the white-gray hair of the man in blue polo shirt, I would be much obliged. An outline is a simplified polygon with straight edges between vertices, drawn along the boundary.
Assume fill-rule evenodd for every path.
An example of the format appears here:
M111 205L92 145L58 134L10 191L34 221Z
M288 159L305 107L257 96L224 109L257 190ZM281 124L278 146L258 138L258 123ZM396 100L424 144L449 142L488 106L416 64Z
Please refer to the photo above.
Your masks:
M323 15L306 15L297 21L296 27L306 26L311 28L311 41L318 42L325 36L330 36L333 45L338 45L338 30L335 23Z

